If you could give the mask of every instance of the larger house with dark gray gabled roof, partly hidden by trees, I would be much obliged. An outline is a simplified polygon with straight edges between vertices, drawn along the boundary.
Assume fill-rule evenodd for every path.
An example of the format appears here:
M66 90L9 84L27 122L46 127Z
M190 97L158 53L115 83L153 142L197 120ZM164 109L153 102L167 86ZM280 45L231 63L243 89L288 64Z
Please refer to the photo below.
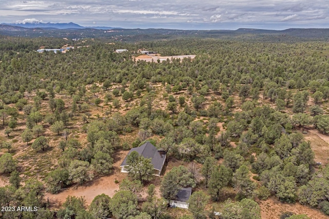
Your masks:
M150 142L147 142L137 148L132 148L127 156L131 154L132 151L136 151L139 155L145 157L145 158L151 158L151 164L154 168L154 175L160 175L163 165L165 165L166 161L166 152L158 151L154 145L152 145ZM124 158L121 167L121 172L127 172L125 167L127 166L127 156Z

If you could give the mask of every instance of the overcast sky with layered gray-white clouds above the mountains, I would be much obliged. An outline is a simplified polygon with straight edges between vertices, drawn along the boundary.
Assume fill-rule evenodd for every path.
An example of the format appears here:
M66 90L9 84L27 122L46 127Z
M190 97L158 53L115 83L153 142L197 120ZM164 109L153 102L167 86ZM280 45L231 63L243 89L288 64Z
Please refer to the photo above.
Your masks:
M169 29L329 28L327 0L0 0L0 23Z

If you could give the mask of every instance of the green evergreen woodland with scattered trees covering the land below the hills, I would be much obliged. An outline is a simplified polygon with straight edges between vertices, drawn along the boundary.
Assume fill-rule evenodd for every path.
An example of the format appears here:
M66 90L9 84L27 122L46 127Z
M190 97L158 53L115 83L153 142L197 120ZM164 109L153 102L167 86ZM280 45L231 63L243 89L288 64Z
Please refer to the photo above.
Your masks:
M36 52L64 45L75 49ZM145 62L139 50L196 56ZM39 209L0 215L261 218L259 204L277 198L326 218L329 146L310 136L329 133L328 61L325 41L0 36L0 204ZM167 152L164 175L138 154L117 173L119 154L145 141ZM114 173L127 177L112 197L45 196ZM181 187L193 188L189 209L168 208Z

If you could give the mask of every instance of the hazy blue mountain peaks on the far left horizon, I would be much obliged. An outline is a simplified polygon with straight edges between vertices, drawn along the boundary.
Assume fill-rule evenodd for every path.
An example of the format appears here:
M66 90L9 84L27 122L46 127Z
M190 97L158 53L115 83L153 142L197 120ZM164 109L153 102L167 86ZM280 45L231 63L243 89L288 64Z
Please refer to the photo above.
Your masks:
M32 23L17 23L17 24L6 24L2 23L1 25L9 25L16 27L25 27L25 28L56 28L56 29L101 29L101 30L109 30L109 29L120 29L118 27L83 27L75 23L41 23L41 22L32 22Z

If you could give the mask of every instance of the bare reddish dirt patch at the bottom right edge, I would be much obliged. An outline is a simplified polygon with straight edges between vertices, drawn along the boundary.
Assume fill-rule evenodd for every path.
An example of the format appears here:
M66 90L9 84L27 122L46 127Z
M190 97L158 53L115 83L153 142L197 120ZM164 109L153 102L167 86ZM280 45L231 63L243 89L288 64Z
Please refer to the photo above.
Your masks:
M271 197L266 201L260 201L262 218L280 218L283 212L293 212L294 214L306 214L309 218L327 219L329 216L324 215L320 210L310 208L299 203L287 204L282 203L278 198Z

